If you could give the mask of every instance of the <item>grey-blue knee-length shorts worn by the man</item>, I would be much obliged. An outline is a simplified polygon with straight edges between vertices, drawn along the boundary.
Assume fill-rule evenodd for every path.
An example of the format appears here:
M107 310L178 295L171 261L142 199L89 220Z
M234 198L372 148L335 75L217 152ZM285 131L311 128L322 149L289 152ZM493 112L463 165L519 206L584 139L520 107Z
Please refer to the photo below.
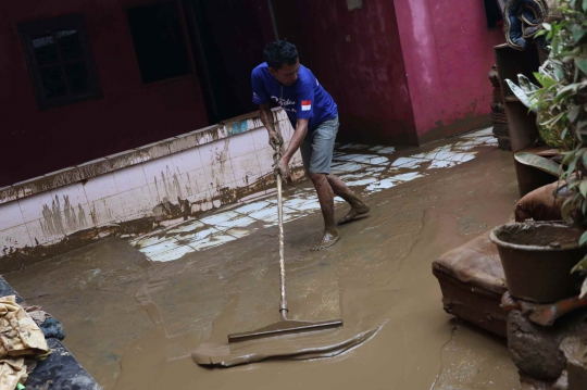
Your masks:
M321 123L312 133L308 133L300 147L307 173L326 175L330 173L334 144L339 126L337 116Z

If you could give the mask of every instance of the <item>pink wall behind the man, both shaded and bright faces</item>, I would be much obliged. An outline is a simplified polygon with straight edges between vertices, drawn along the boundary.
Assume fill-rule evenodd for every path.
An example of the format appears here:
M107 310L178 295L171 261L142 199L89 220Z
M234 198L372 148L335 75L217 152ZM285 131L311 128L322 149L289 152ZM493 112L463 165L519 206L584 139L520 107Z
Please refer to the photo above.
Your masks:
M489 125L494 46L483 1L299 0L309 64L340 108L341 138L424 143ZM350 42L347 41L350 37Z

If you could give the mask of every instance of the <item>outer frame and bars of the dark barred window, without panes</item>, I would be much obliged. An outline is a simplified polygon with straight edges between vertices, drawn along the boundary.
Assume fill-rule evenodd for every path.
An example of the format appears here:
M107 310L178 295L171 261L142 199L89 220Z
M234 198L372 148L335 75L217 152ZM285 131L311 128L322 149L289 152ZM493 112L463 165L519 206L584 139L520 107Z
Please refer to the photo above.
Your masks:
M102 88L98 76L98 70L93 61L91 45L83 14L74 13L46 20L21 22L17 24L17 29L21 37L21 42L23 45L30 78L33 81L33 89L37 99L37 105L40 111L102 98ZM37 63L37 58L35 55L33 39L35 36L43 34L51 34L54 37L55 32L60 29L77 30L79 43L82 47L82 58L85 62L86 73L88 76L88 92L80 95L72 95L70 92L68 83L65 81L65 85L67 87L67 95L59 98L48 99L45 92L43 81L40 74L40 66ZM59 55L59 64L63 68L65 62L61 59L60 53Z

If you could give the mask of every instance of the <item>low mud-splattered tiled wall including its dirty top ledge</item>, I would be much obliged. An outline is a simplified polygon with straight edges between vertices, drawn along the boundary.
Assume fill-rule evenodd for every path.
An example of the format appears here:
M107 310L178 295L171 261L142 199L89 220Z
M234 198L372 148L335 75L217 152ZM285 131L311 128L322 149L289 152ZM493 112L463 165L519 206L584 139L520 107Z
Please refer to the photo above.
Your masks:
M287 115L274 115L288 144ZM1 188L0 272L265 194L272 165L267 131L252 113ZM300 178L299 152L292 166Z

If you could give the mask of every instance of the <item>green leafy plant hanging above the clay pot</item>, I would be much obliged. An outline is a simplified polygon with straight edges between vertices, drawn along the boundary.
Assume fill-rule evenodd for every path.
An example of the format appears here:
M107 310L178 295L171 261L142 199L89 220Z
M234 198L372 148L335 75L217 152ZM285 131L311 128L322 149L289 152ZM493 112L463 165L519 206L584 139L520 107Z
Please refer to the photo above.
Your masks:
M587 0L562 0L562 18L545 23L538 36L550 41L549 58L535 74L540 88L534 92L538 126L544 140L555 144L561 164L529 155L516 160L558 176L567 189L562 206L566 222L587 230ZM549 139L550 138L550 139ZM587 231L579 240L587 243ZM587 257L573 272L587 272ZM587 279L582 288L587 297Z

